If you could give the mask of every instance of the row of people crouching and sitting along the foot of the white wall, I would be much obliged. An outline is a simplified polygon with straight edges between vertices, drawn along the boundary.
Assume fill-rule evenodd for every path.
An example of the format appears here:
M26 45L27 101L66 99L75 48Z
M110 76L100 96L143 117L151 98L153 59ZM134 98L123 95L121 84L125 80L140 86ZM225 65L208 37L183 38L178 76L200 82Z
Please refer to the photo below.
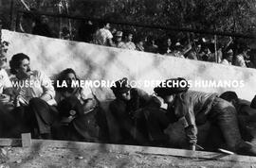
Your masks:
M6 64L7 59L1 56L1 137L16 138L31 132L32 138L39 139L169 147L172 142L165 129L183 118L188 149L196 150L197 126L209 121L220 130L214 137L220 137L222 143L215 150L225 148L256 156L256 147L246 142L254 136L247 124L255 120L256 98L245 103L235 92L219 96L214 92L190 91L189 85L168 85L188 83L180 77L160 83L155 94L150 95L132 88L124 77L110 88L116 99L108 109L119 134L113 142L106 109L102 109L91 88L72 85L79 80L73 69L62 71L52 84L46 74L30 69L26 54L15 54L9 60L12 76L4 69ZM58 82L65 83L65 87L58 87ZM163 104L167 104L167 109L161 108Z

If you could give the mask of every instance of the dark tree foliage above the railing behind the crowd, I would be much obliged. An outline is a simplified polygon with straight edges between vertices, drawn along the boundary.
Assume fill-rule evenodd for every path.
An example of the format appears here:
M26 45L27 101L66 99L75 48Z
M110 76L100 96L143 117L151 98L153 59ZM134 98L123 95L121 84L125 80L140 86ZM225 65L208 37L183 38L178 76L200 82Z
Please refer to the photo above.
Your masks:
M52 12L60 1L25 0L30 8ZM255 0L68 0L68 5L70 14L85 17L256 34Z

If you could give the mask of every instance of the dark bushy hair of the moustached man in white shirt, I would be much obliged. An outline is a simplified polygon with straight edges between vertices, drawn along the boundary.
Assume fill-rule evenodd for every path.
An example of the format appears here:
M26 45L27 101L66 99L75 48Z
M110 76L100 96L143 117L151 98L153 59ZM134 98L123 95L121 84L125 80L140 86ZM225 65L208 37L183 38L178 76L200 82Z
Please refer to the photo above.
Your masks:
M10 67L10 73L13 75L17 74L16 69L18 69L21 65L22 60L29 59L29 57L26 54L18 53L12 56L12 58L9 60L9 67Z

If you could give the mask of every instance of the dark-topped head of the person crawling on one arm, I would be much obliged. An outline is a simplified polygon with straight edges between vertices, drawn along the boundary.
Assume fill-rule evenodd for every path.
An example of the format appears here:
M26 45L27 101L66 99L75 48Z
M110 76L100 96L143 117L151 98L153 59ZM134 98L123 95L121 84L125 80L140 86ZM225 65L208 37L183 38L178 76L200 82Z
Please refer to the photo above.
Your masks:
M171 78L159 84L155 87L154 92L157 96L163 98L167 104L174 103L174 97L181 92L187 92L189 90L188 81L185 78Z

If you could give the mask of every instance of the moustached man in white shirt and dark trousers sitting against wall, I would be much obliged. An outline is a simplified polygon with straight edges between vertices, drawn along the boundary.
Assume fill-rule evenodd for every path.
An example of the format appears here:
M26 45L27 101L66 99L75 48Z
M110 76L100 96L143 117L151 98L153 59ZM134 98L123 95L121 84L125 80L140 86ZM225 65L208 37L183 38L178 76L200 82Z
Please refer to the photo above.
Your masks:
M13 55L9 67L15 76L12 80L16 84L13 86L16 108L12 115L16 123L25 126L33 137L51 138L51 125L57 113L51 80L40 71L32 71L30 59L23 53Z

